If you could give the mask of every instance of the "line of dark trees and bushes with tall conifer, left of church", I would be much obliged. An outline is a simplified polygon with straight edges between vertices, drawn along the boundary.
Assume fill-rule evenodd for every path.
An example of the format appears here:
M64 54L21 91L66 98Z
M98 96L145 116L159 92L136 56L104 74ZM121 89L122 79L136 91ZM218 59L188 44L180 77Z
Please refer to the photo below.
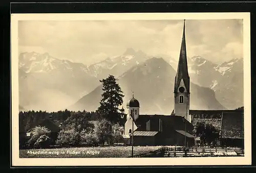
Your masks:
M78 147L122 142L121 129L126 120L124 110L120 109L123 92L113 75L100 82L103 85L103 94L100 106L95 112L68 110L51 113L19 112L19 127L23 127L24 132L32 128L31 136L27 141L26 138L20 138L20 147L46 148L51 144ZM51 132L45 126L37 125L38 120L49 116L53 121L63 122L59 132ZM97 120L96 124L90 122L95 120Z

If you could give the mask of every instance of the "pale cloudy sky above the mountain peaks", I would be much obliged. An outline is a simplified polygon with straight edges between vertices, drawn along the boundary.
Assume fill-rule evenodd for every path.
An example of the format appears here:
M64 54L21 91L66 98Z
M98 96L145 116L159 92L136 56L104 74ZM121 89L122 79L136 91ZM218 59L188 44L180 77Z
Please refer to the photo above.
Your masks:
M21 20L18 49L93 64L127 48L179 58L183 20ZM187 56L215 63L243 57L243 20L186 20Z

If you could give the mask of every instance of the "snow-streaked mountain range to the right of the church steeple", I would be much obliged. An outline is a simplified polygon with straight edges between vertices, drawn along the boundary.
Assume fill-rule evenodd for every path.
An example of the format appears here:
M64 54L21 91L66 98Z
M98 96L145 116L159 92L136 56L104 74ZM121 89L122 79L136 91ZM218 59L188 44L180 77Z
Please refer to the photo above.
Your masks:
M228 109L243 106L243 58L221 64L201 56L187 58L190 81L215 91L217 100ZM170 63L177 67L175 63ZM177 69L175 69L177 70Z

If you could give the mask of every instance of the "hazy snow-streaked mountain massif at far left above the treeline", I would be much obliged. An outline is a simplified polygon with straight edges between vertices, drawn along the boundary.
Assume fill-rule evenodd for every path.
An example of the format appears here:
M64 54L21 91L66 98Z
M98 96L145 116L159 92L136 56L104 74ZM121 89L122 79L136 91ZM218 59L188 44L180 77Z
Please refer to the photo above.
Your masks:
M19 55L19 102L26 109L60 110L99 84L82 63L60 60L48 53Z

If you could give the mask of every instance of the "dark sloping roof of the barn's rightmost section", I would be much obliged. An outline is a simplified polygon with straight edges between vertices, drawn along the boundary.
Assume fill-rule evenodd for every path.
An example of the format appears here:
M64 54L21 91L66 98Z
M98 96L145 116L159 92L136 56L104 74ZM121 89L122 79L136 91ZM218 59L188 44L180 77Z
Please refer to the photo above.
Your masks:
M221 123L221 138L244 138L244 114L224 112Z

